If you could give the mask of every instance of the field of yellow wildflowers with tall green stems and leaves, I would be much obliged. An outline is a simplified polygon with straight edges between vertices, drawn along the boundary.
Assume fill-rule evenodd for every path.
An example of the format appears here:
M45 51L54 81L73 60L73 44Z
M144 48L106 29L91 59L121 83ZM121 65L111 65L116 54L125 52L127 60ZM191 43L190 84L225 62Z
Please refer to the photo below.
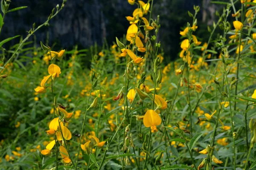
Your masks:
M175 33L179 54L157 39L154 0L123 1L134 11L112 44L37 40L69 2L0 41L0 170L256 170L256 0L213 1L222 10L206 42L194 6ZM26 10L10 3L0 34L9 12Z

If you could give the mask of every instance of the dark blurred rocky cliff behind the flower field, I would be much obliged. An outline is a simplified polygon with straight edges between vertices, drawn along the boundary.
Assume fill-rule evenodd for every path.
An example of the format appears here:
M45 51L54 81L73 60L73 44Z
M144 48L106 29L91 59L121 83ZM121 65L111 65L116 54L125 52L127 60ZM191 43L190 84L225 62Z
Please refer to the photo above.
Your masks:
M147 2L146 0L143 0ZM208 40L207 26L218 20L215 11L223 5L210 3L211 0L154 0L152 18L160 15L161 28L158 41L164 49L165 62L177 58L180 51L180 34L187 22L192 22L187 11L194 13L193 5L200 6L197 16L198 30L195 35L204 43ZM62 0L12 0L9 9L28 6L23 10L6 15L3 36L1 39L15 35L26 36L26 31L44 23L57 4ZM131 6L127 0L67 0L64 9L50 21L50 26L36 32L36 42L45 42L49 37L49 45L56 44L55 50L90 48L95 43L102 46L104 42L112 45L115 37L126 34L129 22L126 16L131 16L136 5ZM13 45L16 39L6 45ZM6 49L8 47L5 46Z

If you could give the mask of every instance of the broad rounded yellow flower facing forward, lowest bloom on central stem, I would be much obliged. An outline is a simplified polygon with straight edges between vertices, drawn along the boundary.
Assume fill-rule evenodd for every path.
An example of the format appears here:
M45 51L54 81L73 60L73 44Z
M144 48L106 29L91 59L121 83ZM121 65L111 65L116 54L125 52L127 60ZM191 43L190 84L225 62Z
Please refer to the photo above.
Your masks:
M148 110L143 118L143 124L145 127L150 127L151 128L151 132L157 132L157 127L158 125L161 124L161 118L160 116L157 114L157 112L153 111L153 110Z

